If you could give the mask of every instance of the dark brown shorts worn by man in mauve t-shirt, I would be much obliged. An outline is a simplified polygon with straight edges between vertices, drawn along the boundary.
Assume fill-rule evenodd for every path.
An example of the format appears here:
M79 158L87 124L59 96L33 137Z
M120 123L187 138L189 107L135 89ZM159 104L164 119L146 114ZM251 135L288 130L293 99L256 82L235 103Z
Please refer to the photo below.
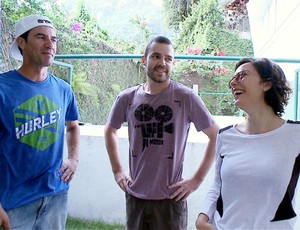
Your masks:
M187 201L143 200L126 193L127 229L187 229Z

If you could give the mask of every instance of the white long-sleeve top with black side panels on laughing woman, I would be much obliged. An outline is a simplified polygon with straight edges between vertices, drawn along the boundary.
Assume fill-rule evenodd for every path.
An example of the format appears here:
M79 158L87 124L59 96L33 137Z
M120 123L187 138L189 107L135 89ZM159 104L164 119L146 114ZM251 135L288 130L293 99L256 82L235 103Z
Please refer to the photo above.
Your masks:
M201 212L217 229L292 229L299 153L299 122L255 135L220 130L215 180Z

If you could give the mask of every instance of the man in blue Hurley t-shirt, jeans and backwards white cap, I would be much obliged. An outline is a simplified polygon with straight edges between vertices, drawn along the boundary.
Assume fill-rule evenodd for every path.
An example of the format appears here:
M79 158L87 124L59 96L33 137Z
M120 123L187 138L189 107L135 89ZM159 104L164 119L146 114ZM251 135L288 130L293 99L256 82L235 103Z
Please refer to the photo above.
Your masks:
M0 74L0 226L64 229L79 160L76 100L69 84L48 73L57 48L51 20L26 16L15 37L10 51L22 65Z

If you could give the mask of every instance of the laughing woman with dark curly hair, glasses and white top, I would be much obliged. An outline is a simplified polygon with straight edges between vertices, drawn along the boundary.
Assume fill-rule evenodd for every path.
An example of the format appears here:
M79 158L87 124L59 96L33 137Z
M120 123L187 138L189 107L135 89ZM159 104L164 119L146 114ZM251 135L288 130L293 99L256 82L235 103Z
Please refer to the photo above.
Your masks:
M247 116L219 131L197 229L293 229L300 123L282 119L292 92L285 74L269 59L243 58L229 87Z

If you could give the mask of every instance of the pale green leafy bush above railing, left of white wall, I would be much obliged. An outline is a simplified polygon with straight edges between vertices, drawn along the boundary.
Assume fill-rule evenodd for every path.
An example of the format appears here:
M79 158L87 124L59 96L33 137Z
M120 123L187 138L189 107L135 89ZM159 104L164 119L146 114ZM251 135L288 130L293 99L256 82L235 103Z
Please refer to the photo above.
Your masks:
M205 55L224 51L231 56L253 55L250 39L243 39L236 32L225 29L224 12L217 0L200 1L192 13L180 23L176 50L185 53L188 47L210 50Z

